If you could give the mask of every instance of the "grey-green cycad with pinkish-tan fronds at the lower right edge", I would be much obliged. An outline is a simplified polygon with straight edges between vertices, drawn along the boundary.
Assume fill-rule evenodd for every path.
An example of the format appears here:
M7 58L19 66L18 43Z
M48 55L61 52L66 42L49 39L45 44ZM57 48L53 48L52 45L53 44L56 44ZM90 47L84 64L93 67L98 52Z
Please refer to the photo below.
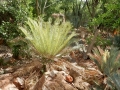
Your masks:
M89 54L100 71L107 77L107 85L111 90L120 89L120 51L112 47L110 51L103 51L100 47L94 48L93 54ZM106 89L104 89L106 90Z

